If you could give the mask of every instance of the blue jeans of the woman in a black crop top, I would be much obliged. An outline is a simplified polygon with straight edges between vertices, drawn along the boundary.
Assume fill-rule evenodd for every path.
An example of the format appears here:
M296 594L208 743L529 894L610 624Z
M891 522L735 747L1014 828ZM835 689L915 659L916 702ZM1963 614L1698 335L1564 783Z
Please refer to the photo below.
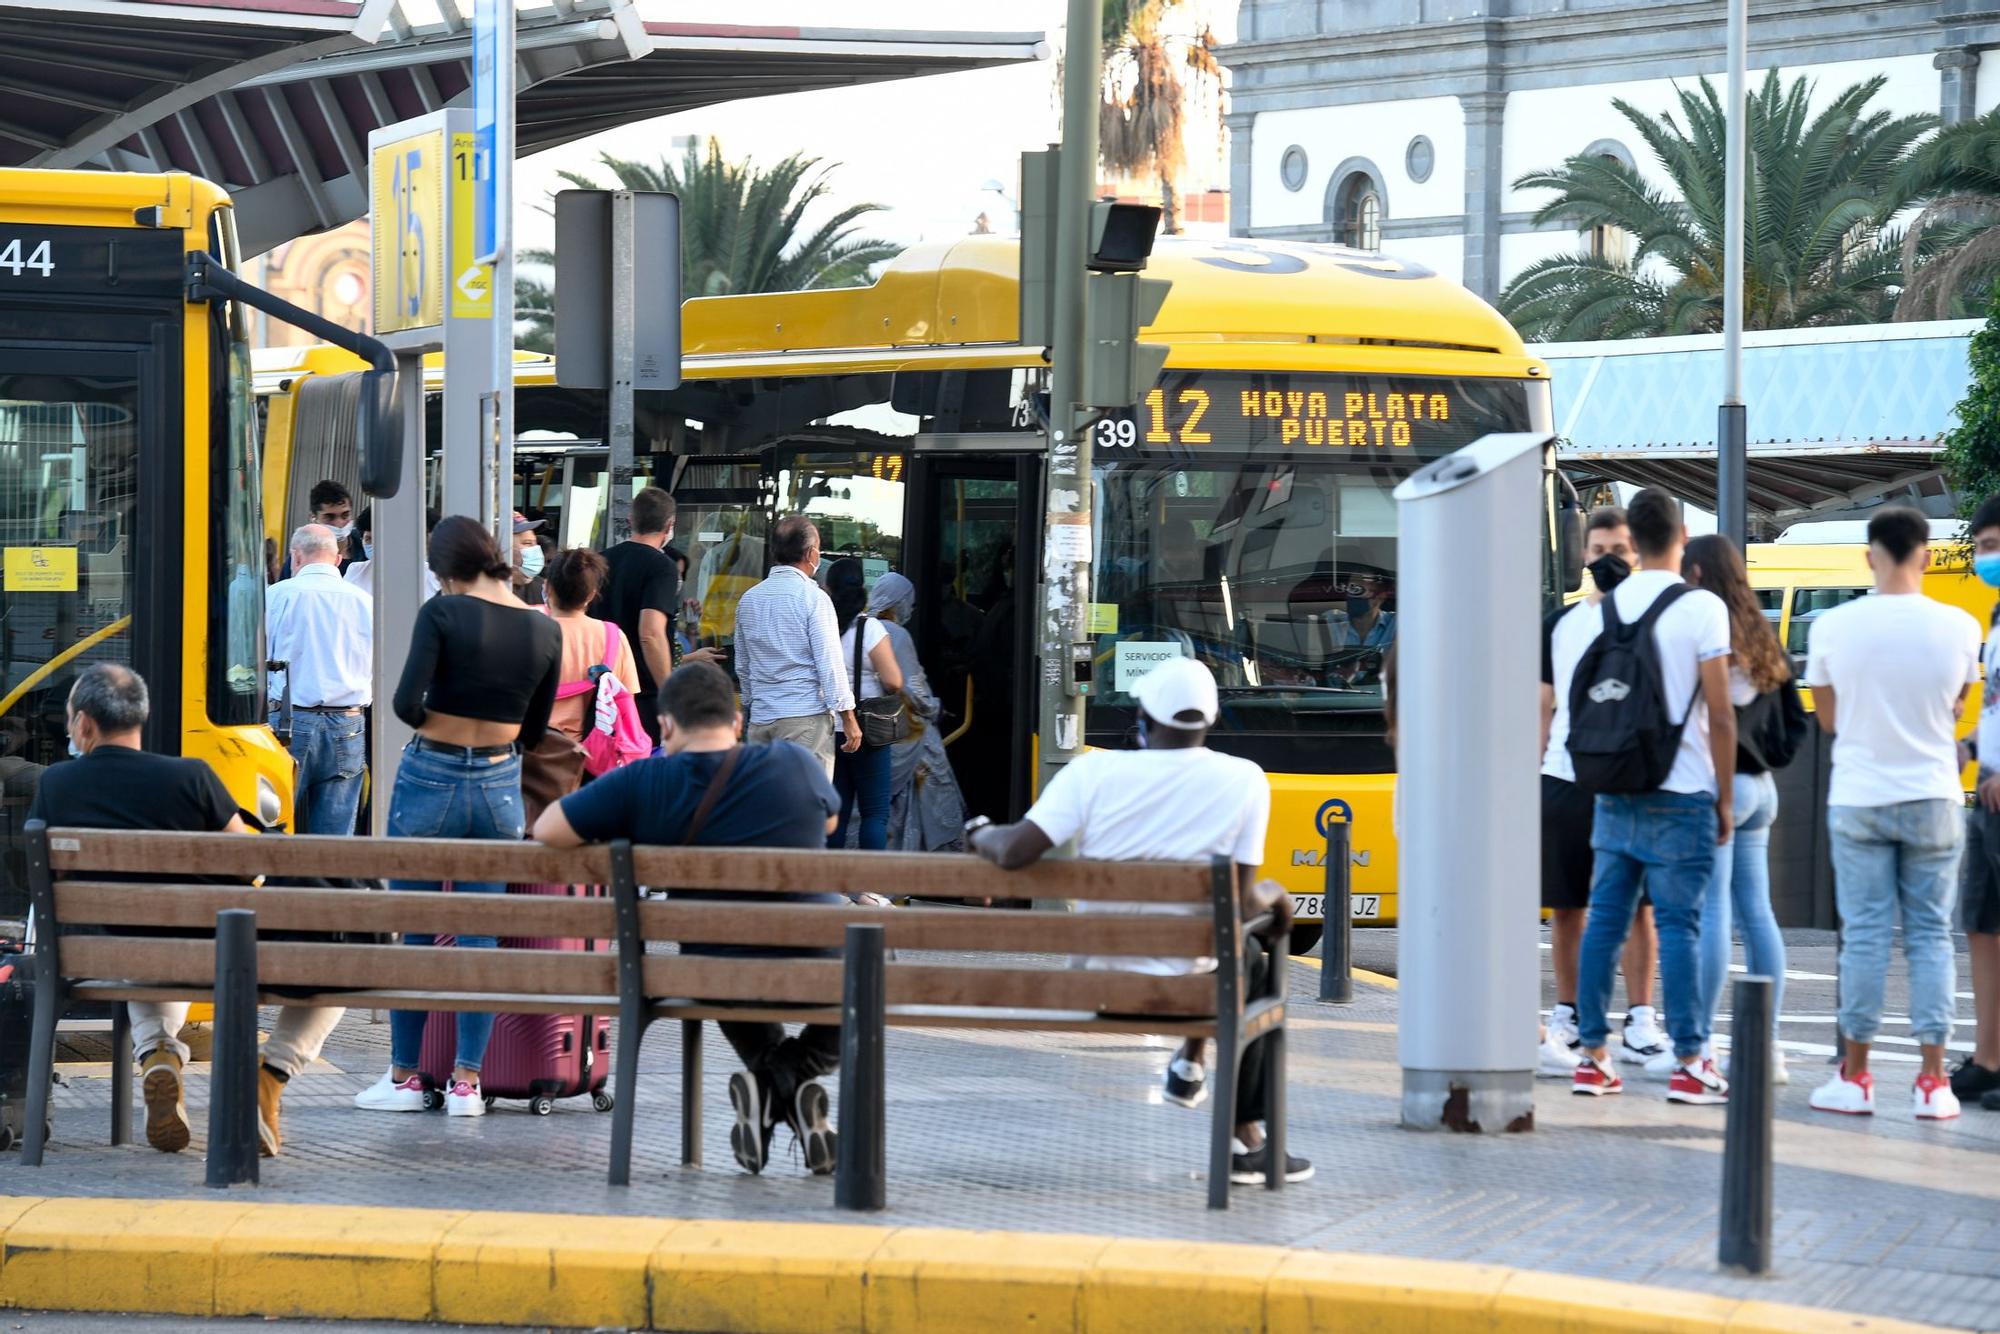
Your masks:
M388 804L390 838L504 838L520 840L520 756L470 756L418 750L402 752L396 792ZM436 890L436 880L390 880L392 890ZM454 880L454 894L504 894L506 884ZM404 944L432 944L434 936L404 936ZM460 950L490 950L492 936L458 936ZM398 1070L416 1070L424 1054L424 1010L390 1010L388 1058ZM458 1016L458 1064L478 1070L494 1032L492 1014Z

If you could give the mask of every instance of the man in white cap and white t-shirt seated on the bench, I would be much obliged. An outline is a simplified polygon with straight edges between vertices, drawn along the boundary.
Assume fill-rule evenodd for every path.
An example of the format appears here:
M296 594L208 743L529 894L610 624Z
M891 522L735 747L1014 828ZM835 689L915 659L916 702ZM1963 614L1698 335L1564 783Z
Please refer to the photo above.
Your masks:
M1216 678L1194 658L1164 662L1132 690L1138 700L1140 750L1092 750L1070 760L1020 824L986 826L972 850L1006 870L1042 858L1076 840L1076 856L1110 862L1236 862L1244 918L1272 914L1272 932L1292 920L1292 900L1272 882L1258 882L1264 830L1270 824L1270 782L1250 760L1208 750L1208 728L1220 712ZM1082 912L1186 912L1178 904L1078 904ZM1204 972L1214 960L1094 958L1092 968L1132 972ZM1260 994L1270 976L1270 952L1244 938L1246 994ZM1200 1042L1182 1046L1168 1066L1174 1102L1196 1106L1208 1096ZM1228 1054L1222 1056L1228 1060ZM1258 1186L1270 1170L1264 1140L1264 1042L1244 1050L1236 1080L1236 1154L1230 1180ZM1312 1164L1286 1154L1284 1180L1302 1182Z

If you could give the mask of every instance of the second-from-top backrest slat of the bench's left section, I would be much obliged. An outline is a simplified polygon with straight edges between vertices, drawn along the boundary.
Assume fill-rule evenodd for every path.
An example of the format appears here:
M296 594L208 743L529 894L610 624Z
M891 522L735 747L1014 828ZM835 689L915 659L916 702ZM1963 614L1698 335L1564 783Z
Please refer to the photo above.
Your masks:
M608 898L532 894L436 894L430 890L308 890L242 884L56 882L56 920L66 926L214 928L222 908L252 908L264 932L432 932L452 936L568 936L608 940Z

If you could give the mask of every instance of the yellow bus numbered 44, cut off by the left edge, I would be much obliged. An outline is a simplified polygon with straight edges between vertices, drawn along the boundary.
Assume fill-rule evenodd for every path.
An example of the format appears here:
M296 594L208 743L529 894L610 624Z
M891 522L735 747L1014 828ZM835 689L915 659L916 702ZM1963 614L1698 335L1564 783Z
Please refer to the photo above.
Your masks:
M92 662L146 678L148 748L290 820L244 304L380 344L236 282L232 216L184 174L0 170L0 916L24 910L20 820Z

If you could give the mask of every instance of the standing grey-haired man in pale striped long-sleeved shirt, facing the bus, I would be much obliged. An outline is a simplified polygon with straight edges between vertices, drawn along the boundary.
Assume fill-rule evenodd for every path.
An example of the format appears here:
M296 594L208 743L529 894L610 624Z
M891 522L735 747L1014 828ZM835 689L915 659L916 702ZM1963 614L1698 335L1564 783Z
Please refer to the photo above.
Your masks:
M820 530L804 514L786 514L770 530L776 562L764 582L736 604L736 688L748 716L746 740L798 742L834 774L834 714L840 748L860 750L854 686L840 662L840 624L820 568Z

